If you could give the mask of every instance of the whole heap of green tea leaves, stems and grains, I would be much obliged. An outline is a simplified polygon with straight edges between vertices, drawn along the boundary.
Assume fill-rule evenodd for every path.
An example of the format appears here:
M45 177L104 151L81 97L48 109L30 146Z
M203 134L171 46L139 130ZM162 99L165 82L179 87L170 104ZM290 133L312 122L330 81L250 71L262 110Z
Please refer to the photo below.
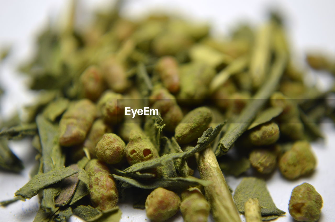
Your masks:
M1 206L38 195L36 222L116 222L123 202L152 221L178 211L186 222L283 216L255 176L313 174L310 142L324 138L324 117L335 119L327 103L334 89L306 84L283 18L271 12L257 28L242 24L215 38L208 24L178 16L128 19L121 3L79 28L73 1L67 23L37 38L35 57L20 67L36 102L24 118L0 123L0 168L23 169L8 141L25 137L36 165ZM322 53L307 62L335 73ZM243 179L232 192L224 175ZM322 198L311 184L294 187L288 201L295 220L319 219Z

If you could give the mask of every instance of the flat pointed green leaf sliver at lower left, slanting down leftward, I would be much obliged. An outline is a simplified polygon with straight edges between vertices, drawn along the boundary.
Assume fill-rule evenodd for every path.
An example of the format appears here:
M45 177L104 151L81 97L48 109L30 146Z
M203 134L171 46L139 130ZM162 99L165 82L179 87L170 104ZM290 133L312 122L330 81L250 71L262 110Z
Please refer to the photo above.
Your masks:
M77 172L78 171L73 170L70 167L64 167L55 168L47 173L37 174L22 188L17 190L15 192L15 196L19 197L21 200L30 199L37 195L41 189L51 184L57 183Z

